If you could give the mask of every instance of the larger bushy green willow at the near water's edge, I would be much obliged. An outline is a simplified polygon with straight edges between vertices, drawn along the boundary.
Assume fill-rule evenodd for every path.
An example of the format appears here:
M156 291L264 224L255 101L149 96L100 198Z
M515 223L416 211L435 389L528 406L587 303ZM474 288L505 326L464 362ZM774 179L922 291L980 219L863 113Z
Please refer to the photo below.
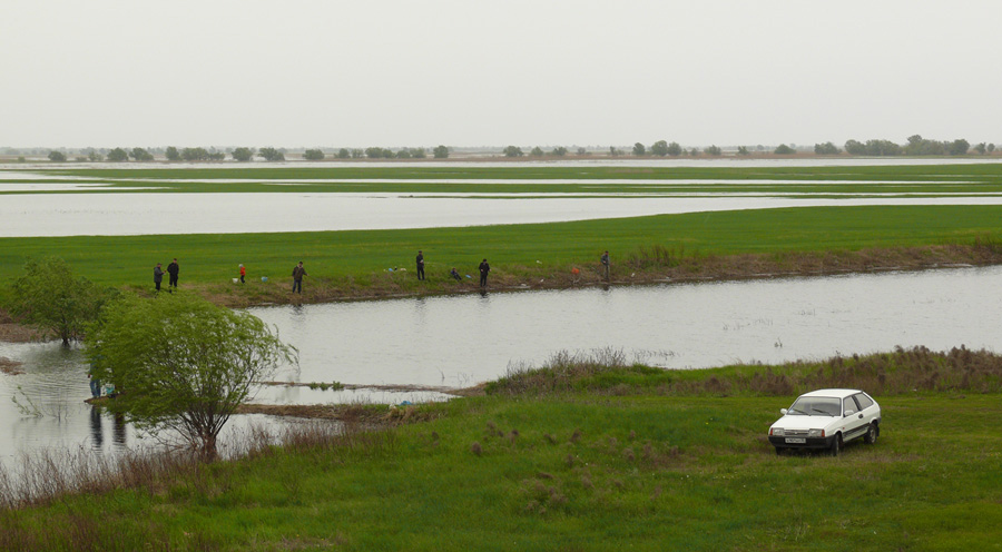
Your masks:
M296 362L257 317L184 293L107 305L85 344L95 376L115 384L110 408L140 430L177 432L206 460L259 382Z

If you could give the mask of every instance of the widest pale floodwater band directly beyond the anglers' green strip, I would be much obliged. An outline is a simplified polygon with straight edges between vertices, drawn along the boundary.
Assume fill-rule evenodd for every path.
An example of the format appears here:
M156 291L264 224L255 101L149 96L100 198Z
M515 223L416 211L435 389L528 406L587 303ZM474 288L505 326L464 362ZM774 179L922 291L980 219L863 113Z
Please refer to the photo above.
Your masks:
M489 199L389 194L11 194L0 237L132 236L435 228L646 215L857 205L1002 205L999 196L784 198L538 197ZM39 224L39 221L45 224ZM168 228L165 230L165 228Z

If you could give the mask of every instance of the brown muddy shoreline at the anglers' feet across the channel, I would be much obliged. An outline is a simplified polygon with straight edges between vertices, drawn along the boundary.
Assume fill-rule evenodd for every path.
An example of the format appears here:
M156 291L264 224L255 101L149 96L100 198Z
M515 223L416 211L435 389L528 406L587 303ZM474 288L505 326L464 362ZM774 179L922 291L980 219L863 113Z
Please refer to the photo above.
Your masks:
M360 287L343 282L313 278L302 295L288 293L284 284L254 288L253 296L242 288L219 285L193 286L208 300L230 308L274 305L308 305L338 302L434 297L480 293L578 289L605 286L685 284L692 282L737 282L787 277L873 274L894 270L929 270L1002 265L1002 246L998 244L934 245L904 248L874 248L857 252L777 252L674 258L656 252L647 258L612 264L611 282L605 282L599 266L568 266L543 272L533 267L497 267L490 284L482 290L474 283L443 279L426 287L405 287L385 279ZM574 272L577 270L577 272ZM407 283L410 284L410 283ZM140 292L141 293L141 292ZM148 293L148 292L146 292ZM31 326L19 324L0 309L0 342L31 343L51 337Z

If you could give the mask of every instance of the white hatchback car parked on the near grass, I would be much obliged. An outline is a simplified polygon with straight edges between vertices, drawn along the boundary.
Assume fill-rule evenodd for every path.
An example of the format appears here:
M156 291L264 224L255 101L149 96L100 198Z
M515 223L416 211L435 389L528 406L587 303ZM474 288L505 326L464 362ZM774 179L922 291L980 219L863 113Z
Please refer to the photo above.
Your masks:
M822 448L837 456L845 443L863 437L866 444L881 434L881 405L858 390L818 390L805 393L769 427L776 454L787 448Z

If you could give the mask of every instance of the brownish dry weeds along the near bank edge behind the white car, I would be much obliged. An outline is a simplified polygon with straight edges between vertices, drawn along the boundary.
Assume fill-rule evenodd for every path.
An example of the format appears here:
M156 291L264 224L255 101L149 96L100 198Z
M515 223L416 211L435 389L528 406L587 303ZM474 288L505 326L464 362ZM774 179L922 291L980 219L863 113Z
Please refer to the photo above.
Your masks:
M558 353L541 367L509 367L488 394L547 395L573 391L626 395L788 396L825 387L895 395L921 392L1000 393L1002 355L964 346L945 352L896 347L890 353L797 361L776 366L668 371L628 365L621 352Z

